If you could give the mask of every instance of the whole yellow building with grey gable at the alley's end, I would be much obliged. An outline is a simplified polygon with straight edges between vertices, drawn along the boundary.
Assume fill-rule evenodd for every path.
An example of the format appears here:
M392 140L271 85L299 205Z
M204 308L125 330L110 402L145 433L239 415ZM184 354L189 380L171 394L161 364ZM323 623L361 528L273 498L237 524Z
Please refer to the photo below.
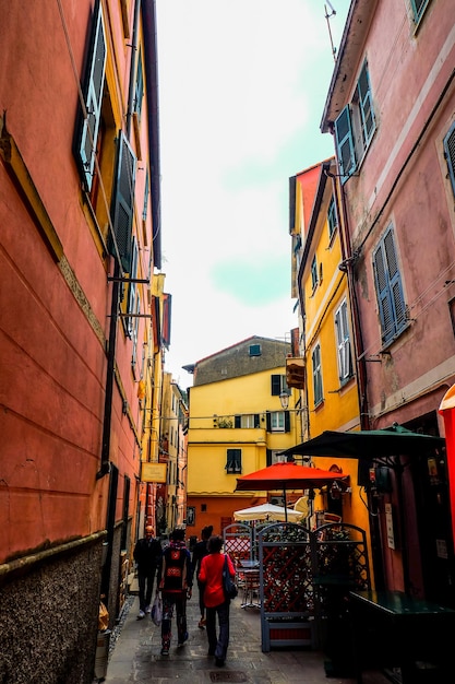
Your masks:
M279 451L301 441L300 412L283 410L279 397L288 393L289 405L298 400L286 385L289 353L289 343L252 337L195 364L189 400L189 535L200 535L206 524L220 533L234 522L234 511L271 498L282 503L279 491L235 490L237 477L283 460Z

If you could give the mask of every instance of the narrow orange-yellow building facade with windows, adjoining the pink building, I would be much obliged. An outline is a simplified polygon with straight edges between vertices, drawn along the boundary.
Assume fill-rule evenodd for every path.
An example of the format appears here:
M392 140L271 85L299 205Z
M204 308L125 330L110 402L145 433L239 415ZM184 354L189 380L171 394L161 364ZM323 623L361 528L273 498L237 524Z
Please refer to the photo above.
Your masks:
M291 185L292 273L300 305L300 355L306 368L301 390L304 439L326 429L360 427L335 174L334 160L327 160L298 174ZM358 484L358 460L318 457L312 462L349 475L347 485L327 488L316 497L312 524L330 512L368 532L369 514Z

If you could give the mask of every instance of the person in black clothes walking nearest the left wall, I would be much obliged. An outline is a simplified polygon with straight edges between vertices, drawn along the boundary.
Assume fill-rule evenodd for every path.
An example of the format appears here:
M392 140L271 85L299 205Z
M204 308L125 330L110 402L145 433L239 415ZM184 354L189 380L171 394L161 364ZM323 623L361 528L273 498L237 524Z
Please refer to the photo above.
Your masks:
M152 610L153 582L161 555L161 544L158 539L155 539L153 527L147 524L145 527L145 536L137 540L133 551L133 557L137 564L137 620L145 617L145 614Z

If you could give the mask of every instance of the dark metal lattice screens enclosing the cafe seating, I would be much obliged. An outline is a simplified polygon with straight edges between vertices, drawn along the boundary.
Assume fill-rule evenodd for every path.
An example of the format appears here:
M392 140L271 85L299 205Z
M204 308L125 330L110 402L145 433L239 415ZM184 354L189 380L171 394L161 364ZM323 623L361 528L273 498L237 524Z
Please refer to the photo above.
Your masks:
M258 534L262 650L311 646L346 612L349 591L370 588L363 530L327 523L313 532L276 522Z

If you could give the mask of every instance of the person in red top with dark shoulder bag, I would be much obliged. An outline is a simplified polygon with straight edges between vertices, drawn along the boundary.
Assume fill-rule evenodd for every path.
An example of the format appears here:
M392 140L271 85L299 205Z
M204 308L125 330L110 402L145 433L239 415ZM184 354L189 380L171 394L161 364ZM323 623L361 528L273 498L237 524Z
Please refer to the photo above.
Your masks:
M208 656L215 657L215 664L221 668L226 661L229 646L229 605L230 599L226 598L223 587L223 568L225 554L221 553L223 538L215 534L208 540L208 555L201 563L199 579L205 585L204 605L206 611L206 626L208 639ZM235 578L236 569L228 555L227 564L229 575ZM219 636L216 636L216 617L218 616Z

